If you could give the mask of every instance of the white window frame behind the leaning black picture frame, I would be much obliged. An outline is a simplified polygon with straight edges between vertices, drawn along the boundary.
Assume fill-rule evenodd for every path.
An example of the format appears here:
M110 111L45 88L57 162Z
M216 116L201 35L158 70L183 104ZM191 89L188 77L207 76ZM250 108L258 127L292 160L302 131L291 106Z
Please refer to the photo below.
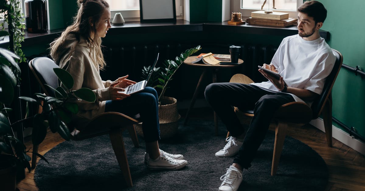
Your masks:
M176 7L176 19L184 19L184 2L183 0L175 0ZM110 7L111 20L113 20L116 13L120 12L126 22L140 21L139 9L127 9L127 10L112 10Z

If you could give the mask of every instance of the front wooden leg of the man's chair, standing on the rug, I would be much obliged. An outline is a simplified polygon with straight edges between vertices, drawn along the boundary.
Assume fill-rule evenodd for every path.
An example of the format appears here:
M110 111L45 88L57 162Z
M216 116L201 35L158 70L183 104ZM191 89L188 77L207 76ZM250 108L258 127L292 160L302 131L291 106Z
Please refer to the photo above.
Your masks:
M283 150L285 136L287 135L287 128L288 128L287 123L281 123L281 121L278 121L275 130L275 143L274 143L273 161L271 165L271 176L276 175L281 151Z

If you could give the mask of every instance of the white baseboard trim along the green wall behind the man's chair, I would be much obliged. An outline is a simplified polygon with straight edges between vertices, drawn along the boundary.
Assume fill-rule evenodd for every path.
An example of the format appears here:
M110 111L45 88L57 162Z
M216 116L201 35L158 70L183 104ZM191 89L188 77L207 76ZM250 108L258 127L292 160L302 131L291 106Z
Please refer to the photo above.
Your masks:
M310 124L324 132L323 119L318 118L312 120ZM332 137L342 142L343 144L351 147L352 149L358 151L359 153L365 155L365 143L353 138L347 132L342 131L335 126L332 126Z

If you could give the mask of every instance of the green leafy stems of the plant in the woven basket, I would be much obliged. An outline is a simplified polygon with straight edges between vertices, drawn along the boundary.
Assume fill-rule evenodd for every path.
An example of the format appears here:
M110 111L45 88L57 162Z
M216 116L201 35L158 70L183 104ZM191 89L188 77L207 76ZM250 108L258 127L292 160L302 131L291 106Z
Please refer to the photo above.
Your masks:
M185 50L185 52L182 52L180 56L177 56L175 60L165 60L163 67L153 68L154 71L147 85L161 89L158 100L161 100L161 98L164 97L165 91L166 89L168 89L168 84L170 80L173 79L172 76L175 74L177 69L184 63L184 60L187 59L187 57L191 56L193 53L198 52L198 50L200 49L200 45L196 46L195 48L187 49ZM143 67L142 76L144 79L146 79L151 70L151 66Z

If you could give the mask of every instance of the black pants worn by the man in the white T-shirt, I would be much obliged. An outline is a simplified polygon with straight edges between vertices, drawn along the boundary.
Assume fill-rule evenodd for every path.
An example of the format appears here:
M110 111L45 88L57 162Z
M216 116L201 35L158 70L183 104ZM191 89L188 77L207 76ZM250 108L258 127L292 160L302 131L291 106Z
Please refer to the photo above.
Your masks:
M205 88L205 99L218 114L231 136L242 135L240 124L232 106L253 109L249 129L234 163L249 168L268 131L274 112L283 104L295 101L290 94L273 93L260 87L242 83L212 83Z

